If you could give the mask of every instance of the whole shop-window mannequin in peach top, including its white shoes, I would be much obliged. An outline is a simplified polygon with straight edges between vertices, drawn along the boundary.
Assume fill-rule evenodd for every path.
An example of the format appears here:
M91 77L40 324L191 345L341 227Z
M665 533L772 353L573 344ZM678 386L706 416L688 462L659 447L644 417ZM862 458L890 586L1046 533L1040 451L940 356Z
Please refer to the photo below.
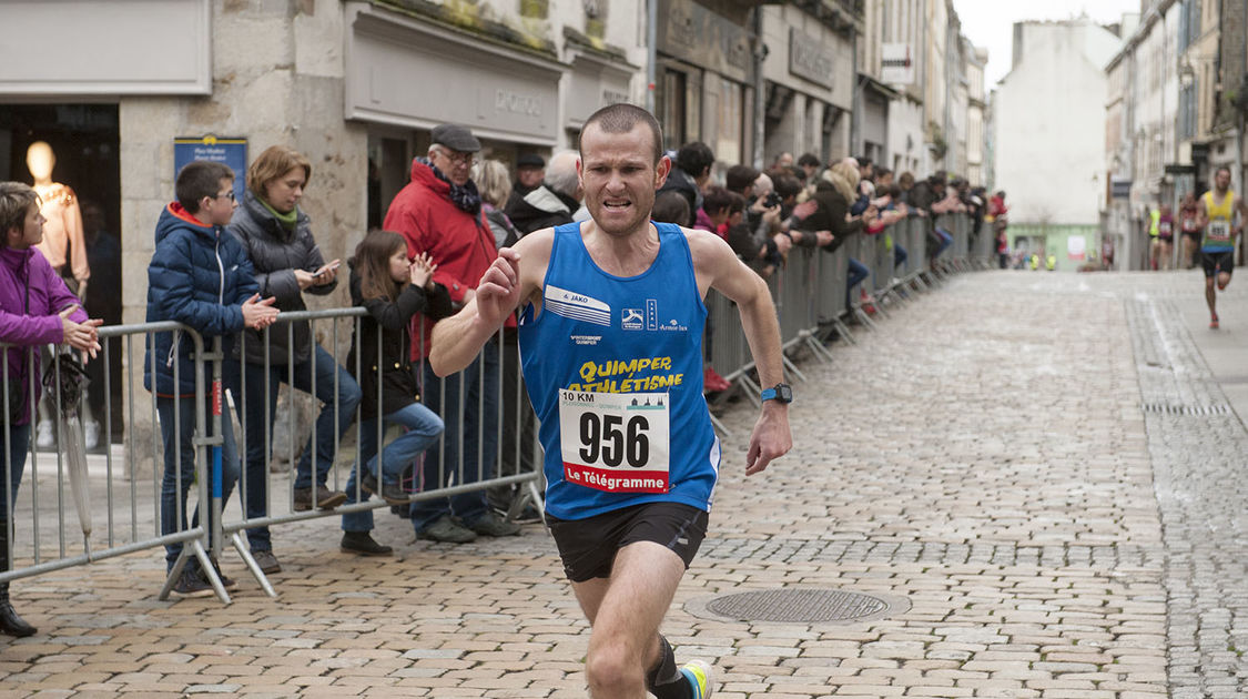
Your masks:
M35 141L26 149L26 169L35 181L35 193L39 195L41 203L40 213L46 220L44 240L35 247L65 280L70 291L79 298L86 298L86 280L91 276L91 268L86 261L86 241L82 238L82 212L74 190L69 185L52 181L55 166L56 155L46 142ZM44 361L50 361L50 356L45 356ZM35 431L35 444L41 449L52 447L55 442L52 409L55 406L50 403L49 396L44 394L39 401L39 426ZM94 437L87 448L95 448L99 427L87 401L84 401L82 418L86 426L91 426Z

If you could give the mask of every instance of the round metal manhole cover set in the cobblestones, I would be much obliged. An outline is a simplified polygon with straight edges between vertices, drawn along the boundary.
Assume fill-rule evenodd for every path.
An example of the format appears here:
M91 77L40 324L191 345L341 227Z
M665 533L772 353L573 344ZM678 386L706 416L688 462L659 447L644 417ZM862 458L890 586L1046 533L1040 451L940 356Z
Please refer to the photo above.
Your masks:
M826 624L882 618L906 612L902 597L862 594L834 589L773 589L716 597L690 603L690 613L738 622Z

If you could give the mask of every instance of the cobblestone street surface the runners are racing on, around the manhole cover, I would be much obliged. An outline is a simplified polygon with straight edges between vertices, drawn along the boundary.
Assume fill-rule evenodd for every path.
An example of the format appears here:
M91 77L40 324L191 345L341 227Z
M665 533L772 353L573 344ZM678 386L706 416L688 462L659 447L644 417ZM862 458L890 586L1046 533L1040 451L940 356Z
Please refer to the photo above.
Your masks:
M802 357L789 457L744 478L756 412L721 416L678 658L713 663L716 699L1244 697L1248 377L1224 367L1248 374L1246 302L1238 280L1207 331L1198 271L993 271ZM0 639L0 697L585 697L589 629L539 525L453 547L383 513L381 559L339 553L337 527L275 530L276 600L232 553L228 607L156 600L155 552L15 582L40 633ZM896 603L703 612L779 587Z

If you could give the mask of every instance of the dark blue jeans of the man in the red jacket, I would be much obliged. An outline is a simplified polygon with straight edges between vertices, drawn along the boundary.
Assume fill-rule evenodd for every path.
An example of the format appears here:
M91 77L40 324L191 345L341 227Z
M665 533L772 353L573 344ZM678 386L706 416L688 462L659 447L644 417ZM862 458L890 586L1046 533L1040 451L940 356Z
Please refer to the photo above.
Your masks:
M447 431L441 448L434 447L424 454L419 489L447 487L452 481L462 486L492 478L498 451L498 345L487 342L464 371L447 377L444 389L428 362L424 362L423 371L424 403L442 416ZM482 456L479 463L478 451ZM414 502L408 517L412 527L422 532L447 514L454 514L466 524L475 522L487 514L488 507L485 491L473 491L451 498Z

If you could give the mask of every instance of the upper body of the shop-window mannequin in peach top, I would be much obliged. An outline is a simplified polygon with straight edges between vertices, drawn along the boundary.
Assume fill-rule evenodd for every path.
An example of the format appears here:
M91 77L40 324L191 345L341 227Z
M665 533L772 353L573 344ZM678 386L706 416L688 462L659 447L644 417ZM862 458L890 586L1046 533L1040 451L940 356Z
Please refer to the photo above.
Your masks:
M86 242L82 240L82 212L74 190L69 185L52 182L55 166L56 155L46 142L35 141L26 149L26 169L35 180L39 200L44 202L40 212L47 220L39 251L65 277L70 291L77 293L79 298L86 298L86 280L91 276L91 267L87 266Z

